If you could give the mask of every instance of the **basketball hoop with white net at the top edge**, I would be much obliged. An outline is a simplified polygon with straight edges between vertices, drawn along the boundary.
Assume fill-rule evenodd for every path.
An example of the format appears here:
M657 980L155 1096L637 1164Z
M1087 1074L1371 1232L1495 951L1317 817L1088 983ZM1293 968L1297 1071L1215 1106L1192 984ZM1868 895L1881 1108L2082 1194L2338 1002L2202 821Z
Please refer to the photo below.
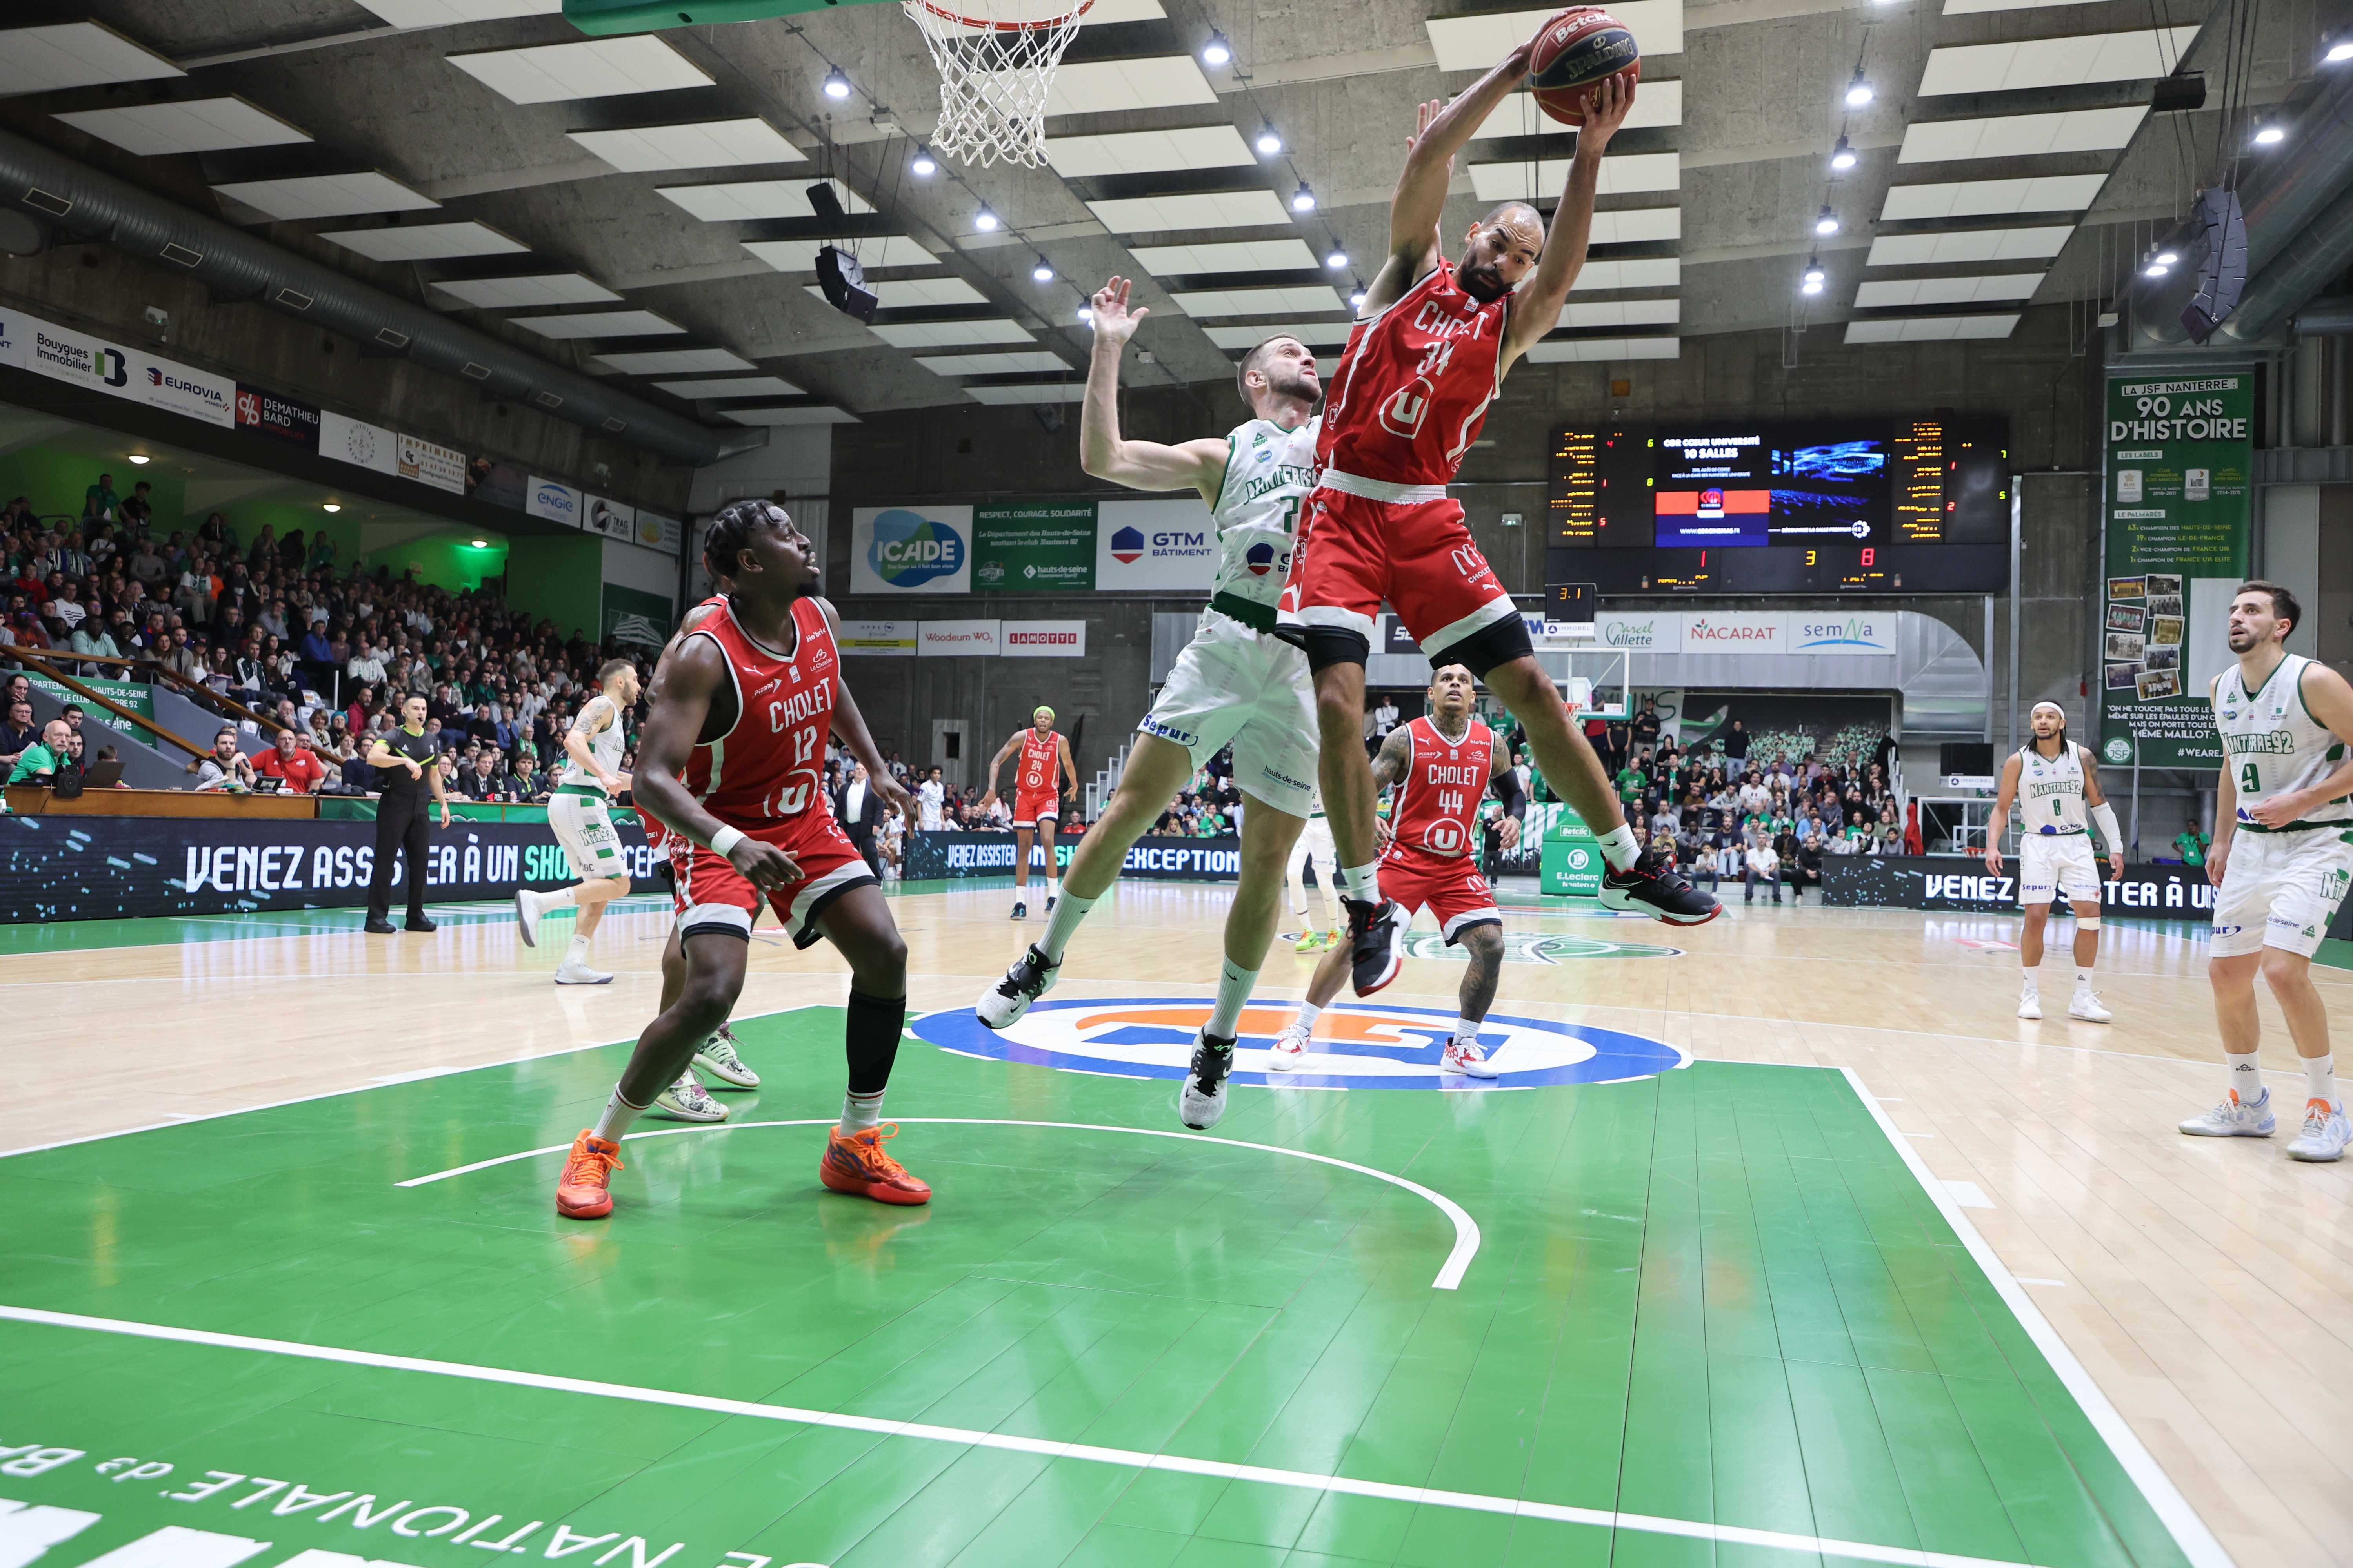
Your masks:
M1045 99L1054 66L1094 0L904 0L939 66L932 150L962 165L1045 165Z

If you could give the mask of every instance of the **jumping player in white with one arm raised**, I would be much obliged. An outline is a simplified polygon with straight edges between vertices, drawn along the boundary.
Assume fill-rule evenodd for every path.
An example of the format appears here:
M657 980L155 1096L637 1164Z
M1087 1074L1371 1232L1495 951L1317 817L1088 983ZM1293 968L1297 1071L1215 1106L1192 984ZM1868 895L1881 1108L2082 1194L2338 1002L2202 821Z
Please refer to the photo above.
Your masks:
M1315 797L1315 703L1308 661L1275 637L1275 595L1289 569L1299 503L1315 489L1315 355L1273 336L1242 355L1235 383L1252 418L1226 437L1162 447L1120 440L1120 350L1146 310L1129 313L1127 280L1094 296L1094 362L1080 414L1080 463L1096 480L1129 489L1193 489L1217 522L1217 588L1193 642L1176 656L1160 701L1136 726L1120 788L1104 818L1078 842L1061 879L1061 903L1045 936L974 1009L1002 1030L1054 990L1064 947L1127 860L1127 846L1160 818L1202 762L1233 745L1242 790L1242 867L1226 907L1226 964L1217 1001L1193 1041L1193 1065L1176 1114L1200 1131L1226 1114L1226 1072L1242 1004L1266 961L1282 910L1282 867Z

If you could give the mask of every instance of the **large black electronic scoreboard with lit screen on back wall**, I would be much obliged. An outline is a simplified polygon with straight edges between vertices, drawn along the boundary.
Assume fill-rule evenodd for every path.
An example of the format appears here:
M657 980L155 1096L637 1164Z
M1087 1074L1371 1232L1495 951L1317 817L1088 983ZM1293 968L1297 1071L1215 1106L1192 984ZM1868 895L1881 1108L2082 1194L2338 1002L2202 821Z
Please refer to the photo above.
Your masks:
M1546 581L1600 592L2009 585L2005 418L1567 428Z

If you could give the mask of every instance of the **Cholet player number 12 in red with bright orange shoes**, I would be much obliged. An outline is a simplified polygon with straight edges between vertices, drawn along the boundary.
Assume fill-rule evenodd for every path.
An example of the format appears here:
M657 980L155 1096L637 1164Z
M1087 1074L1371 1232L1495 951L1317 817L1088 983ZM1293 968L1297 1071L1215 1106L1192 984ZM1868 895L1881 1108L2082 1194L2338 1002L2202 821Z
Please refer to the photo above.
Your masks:
M744 990L751 922L765 900L795 947L819 936L849 959L849 1095L826 1133L819 1180L885 1204L932 1190L882 1152L882 1088L906 1025L906 943L873 875L826 804L826 733L838 722L873 788L906 804L842 684L833 607L816 597L807 536L772 501L711 522L704 564L727 602L654 670L638 743L638 799L671 830L685 987L638 1037L595 1128L572 1143L555 1211L612 1213L621 1138L727 1023Z

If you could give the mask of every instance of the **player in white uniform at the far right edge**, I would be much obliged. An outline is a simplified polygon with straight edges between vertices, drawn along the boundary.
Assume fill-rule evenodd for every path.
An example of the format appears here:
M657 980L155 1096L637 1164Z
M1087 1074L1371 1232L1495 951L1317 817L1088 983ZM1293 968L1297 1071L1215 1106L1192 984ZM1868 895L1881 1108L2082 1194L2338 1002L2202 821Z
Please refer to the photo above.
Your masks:
M2304 1131L2289 1159L2344 1159L2344 1100L2329 1053L2329 1013L2313 985L2313 952L2353 884L2353 686L2289 654L2304 607L2278 583L2240 583L2231 597L2231 651L2214 677L2221 783L2214 785L2214 945L2207 978L2231 1088L2181 1124L2193 1138L2268 1138L2275 1119L2257 1065L2264 1025L2254 973L2264 971L2287 1037L2304 1058Z

